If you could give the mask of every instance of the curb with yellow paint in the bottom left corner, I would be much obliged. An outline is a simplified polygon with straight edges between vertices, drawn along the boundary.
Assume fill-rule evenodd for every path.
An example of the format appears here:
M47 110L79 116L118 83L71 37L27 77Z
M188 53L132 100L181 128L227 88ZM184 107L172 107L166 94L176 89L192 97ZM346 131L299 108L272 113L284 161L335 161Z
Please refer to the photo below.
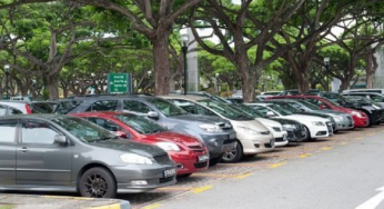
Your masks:
M70 196L33 196L33 195L13 195L13 193L1 193L0 197L9 200L10 198L12 199L20 199L20 198L32 198L36 199L37 205L38 199L60 199L60 200L80 200L80 201L92 201L92 202L111 202L107 203L105 206L94 206L94 207L89 207L84 206L83 209L131 209L131 203L128 200L121 200L121 199L103 199L103 198L82 198L82 197L70 197ZM0 198L0 203L1 203L1 198ZM18 202L9 202L9 205L20 205ZM54 209L55 207L51 207Z

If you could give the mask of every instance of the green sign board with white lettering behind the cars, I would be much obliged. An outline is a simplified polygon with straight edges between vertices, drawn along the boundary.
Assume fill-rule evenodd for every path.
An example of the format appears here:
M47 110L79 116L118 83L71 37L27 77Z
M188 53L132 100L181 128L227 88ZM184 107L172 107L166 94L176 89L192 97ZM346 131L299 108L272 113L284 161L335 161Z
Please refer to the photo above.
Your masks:
M132 77L129 73L108 74L109 93L132 93Z

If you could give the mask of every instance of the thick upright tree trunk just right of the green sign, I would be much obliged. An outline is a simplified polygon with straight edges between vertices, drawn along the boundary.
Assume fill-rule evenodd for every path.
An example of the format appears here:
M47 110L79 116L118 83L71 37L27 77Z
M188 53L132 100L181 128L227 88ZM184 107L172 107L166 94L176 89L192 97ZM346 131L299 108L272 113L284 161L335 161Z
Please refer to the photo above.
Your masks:
M165 32L166 33L166 32ZM158 34L153 40L154 59L154 94L164 96L170 92L169 36Z

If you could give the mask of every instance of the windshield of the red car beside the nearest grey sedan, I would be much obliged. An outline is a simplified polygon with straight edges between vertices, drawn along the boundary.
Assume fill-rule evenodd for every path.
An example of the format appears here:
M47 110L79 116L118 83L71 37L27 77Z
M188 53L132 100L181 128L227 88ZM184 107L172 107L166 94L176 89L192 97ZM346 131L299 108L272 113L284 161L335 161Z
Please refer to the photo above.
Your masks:
M166 131L164 127L140 116L118 115L114 118L119 119L120 121L124 122L125 125L128 125L129 127L142 135L151 135L155 132Z

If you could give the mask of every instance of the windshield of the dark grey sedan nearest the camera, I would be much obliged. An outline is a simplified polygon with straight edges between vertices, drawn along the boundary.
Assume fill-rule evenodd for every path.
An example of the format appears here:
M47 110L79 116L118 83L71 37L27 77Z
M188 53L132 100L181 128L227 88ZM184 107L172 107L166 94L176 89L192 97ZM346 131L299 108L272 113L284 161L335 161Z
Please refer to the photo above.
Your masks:
M117 138L107 129L103 129L81 118L58 117L52 119L52 121L83 142L97 142Z

